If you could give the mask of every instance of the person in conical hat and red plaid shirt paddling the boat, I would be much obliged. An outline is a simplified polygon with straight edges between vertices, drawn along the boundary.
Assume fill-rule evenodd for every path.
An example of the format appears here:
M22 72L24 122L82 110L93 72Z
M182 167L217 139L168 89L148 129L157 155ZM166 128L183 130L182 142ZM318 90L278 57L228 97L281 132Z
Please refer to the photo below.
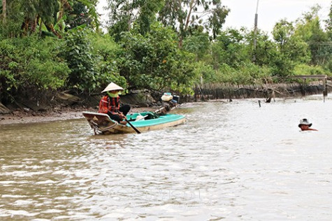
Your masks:
M119 92L124 89L115 83L110 83L101 93L105 95L99 102L99 113L107 113L110 119L119 122L120 124L127 124L126 120L127 113L130 110L129 105L123 105L120 107L120 96Z

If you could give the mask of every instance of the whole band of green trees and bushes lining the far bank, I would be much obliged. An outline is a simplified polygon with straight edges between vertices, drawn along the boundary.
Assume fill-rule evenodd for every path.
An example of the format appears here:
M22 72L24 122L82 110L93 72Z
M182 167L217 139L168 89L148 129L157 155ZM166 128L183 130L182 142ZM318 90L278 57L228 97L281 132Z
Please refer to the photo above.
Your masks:
M260 30L222 31L229 9L219 0L108 0L110 32L104 35L96 2L6 1L0 99L30 88L100 92L111 81L185 94L201 82L282 82L332 71L332 5L326 29L315 6L296 22L277 22L271 39Z

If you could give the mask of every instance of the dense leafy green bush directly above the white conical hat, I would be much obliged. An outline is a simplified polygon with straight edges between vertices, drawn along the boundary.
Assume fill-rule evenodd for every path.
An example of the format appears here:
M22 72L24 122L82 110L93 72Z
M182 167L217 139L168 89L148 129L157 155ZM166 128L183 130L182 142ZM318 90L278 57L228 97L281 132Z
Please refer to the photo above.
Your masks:
M94 34L88 29L71 29L62 53L71 69L68 86L88 94L112 81L126 88L127 82L117 69L119 53L119 45L110 36Z

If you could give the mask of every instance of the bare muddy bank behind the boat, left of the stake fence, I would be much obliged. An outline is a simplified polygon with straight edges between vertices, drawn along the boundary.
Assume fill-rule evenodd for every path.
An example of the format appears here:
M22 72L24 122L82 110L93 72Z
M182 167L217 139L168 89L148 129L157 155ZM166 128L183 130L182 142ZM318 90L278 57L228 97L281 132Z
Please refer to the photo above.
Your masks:
M122 104L131 106L130 112L157 110L161 104L147 90L136 90L121 97ZM154 96L159 96L155 95ZM52 98L52 99L50 99ZM0 124L25 124L82 118L82 111L98 111L100 94L83 97L67 92L41 94L37 99L17 99L3 106L0 103Z

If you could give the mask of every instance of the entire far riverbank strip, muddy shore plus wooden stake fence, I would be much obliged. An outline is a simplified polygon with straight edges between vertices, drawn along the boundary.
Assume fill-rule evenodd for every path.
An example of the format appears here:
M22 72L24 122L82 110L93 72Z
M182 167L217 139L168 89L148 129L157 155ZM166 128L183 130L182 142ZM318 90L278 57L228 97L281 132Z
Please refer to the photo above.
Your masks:
M328 88L331 92L331 88ZM321 94L324 87L315 82L308 85L301 84L268 84L268 85L225 85L205 84L194 89L194 95L180 97L182 103L208 101L215 99L266 99L269 102L277 97L303 97L311 94ZM45 97L56 99L45 99ZM43 94L44 99L17 101L16 106L7 106L8 113L1 114L0 124L24 124L34 122L50 122L56 120L70 120L82 118L82 111L98 111L100 94L91 97L77 97L66 92L57 94ZM149 90L131 91L121 97L123 104L129 104L131 112L157 110L161 105L161 94ZM42 102L44 101L44 102Z

